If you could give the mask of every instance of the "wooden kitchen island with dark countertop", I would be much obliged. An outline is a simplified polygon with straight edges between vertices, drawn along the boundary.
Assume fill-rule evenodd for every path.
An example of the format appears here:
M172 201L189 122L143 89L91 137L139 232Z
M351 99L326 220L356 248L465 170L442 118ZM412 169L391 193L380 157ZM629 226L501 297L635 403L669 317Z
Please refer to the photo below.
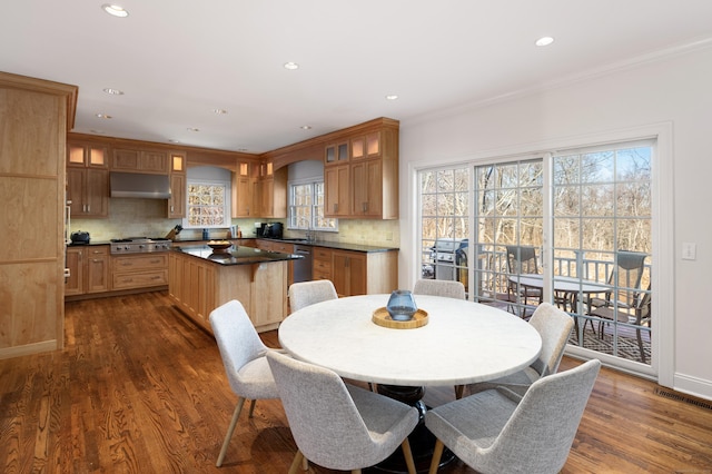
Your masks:
M287 315L287 264L298 258L251 247L174 248L168 293L178 309L210 333L210 312L230 299L245 306L258 332L271 330Z

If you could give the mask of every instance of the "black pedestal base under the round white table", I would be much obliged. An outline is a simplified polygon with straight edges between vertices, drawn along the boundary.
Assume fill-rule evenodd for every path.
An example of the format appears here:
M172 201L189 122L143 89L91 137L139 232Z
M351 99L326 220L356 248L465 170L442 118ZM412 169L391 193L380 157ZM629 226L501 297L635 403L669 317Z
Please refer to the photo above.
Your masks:
M406 387L400 385L377 385L376 392L390 398L414 406L419 413L419 421L413 433L408 435L411 451L413 452L413 461L415 468L419 473L426 473L431 468L433 461L433 450L435 448L435 435L425 427L425 412L427 406L423 402L425 394L424 387ZM455 458L455 455L447 448L443 451L441 457L441 467L448 464ZM403 457L403 450L396 450L385 461L374 466L376 471L387 473L407 473L408 468Z

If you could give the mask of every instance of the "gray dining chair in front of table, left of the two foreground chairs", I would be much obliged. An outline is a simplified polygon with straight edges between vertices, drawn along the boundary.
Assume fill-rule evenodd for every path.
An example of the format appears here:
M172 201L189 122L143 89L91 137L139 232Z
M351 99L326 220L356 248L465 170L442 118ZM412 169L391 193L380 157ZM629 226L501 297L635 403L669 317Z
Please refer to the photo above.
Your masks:
M403 448L415 473L408 435L416 408L347 385L334 372L281 354L267 355L289 428L297 444L289 474L308 460L330 470L360 473Z

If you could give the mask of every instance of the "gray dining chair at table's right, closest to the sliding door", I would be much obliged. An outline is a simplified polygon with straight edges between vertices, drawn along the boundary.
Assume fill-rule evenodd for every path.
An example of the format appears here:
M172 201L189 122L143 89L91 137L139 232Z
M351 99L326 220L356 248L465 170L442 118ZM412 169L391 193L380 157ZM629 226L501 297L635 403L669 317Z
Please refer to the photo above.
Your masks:
M534 314L530 318L530 324L534 326L540 336L542 336L542 352L538 358L528 367L524 367L524 369L512 375L495 378L494 381L466 385L467 392L475 394L497 386L505 386L520 395L524 395L530 385L535 381L556 373L561 358L564 355L574 319L557 307L548 303L542 303L534 310ZM462 396L462 389L458 387L455 388L457 398Z

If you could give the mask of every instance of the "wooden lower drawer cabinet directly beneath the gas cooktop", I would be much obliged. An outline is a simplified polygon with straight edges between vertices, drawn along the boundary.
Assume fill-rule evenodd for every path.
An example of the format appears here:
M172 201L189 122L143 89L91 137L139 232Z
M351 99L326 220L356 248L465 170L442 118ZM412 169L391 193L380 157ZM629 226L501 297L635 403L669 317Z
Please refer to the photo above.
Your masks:
M168 285L168 253L121 255L111 260L113 290Z

